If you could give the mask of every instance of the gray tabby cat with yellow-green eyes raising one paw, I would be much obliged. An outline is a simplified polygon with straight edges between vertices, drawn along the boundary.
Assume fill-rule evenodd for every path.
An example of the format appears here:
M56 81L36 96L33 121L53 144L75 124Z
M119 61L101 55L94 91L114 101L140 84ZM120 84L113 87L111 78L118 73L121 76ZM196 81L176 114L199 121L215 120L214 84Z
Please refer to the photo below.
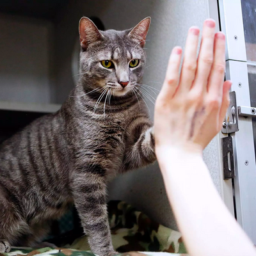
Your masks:
M79 22L81 77L60 111L0 147L0 252L36 246L75 204L93 253L114 255L106 184L155 161L154 135L138 82L150 18L99 31ZM138 97L138 96L139 97ZM111 97L112 96L112 97Z

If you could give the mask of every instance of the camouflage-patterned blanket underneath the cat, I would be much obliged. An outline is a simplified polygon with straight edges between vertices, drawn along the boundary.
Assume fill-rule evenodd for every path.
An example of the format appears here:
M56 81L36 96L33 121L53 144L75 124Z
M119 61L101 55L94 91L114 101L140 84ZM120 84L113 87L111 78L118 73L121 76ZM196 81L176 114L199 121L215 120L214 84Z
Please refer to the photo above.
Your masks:
M180 232L150 220L146 214L125 202L109 202L108 212L113 246L120 255L185 255L182 254L186 253L186 248ZM93 255L83 233L77 235L77 232L71 232L49 242L61 249L13 249L3 255Z

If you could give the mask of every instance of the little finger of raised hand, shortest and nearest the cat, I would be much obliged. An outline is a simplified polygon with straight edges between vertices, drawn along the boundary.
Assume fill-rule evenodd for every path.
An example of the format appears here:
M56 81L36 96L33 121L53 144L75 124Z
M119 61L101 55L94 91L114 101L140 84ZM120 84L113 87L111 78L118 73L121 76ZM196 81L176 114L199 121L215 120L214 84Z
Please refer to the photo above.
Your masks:
M174 47L170 55L163 88L161 90L161 95L168 99L172 99L177 86L179 85L181 53L182 49L180 47Z

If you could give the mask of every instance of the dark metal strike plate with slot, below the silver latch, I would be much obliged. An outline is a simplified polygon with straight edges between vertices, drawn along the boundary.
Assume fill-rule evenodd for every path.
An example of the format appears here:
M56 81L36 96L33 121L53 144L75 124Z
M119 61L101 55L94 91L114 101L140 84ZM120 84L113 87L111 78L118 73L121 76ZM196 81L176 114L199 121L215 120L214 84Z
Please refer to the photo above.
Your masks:
M224 179L233 179L236 176L234 166L233 138L228 136L221 138L222 157L223 157L223 176Z

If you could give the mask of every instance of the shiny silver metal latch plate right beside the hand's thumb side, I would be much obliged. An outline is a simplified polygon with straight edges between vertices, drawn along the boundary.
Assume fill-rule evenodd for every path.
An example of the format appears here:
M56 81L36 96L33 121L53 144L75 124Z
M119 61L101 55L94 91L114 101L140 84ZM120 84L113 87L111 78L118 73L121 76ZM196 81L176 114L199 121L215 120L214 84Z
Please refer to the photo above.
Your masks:
M236 107L236 92L230 92L230 105L228 107L225 119L222 124L222 133L232 133L239 131L238 116Z

